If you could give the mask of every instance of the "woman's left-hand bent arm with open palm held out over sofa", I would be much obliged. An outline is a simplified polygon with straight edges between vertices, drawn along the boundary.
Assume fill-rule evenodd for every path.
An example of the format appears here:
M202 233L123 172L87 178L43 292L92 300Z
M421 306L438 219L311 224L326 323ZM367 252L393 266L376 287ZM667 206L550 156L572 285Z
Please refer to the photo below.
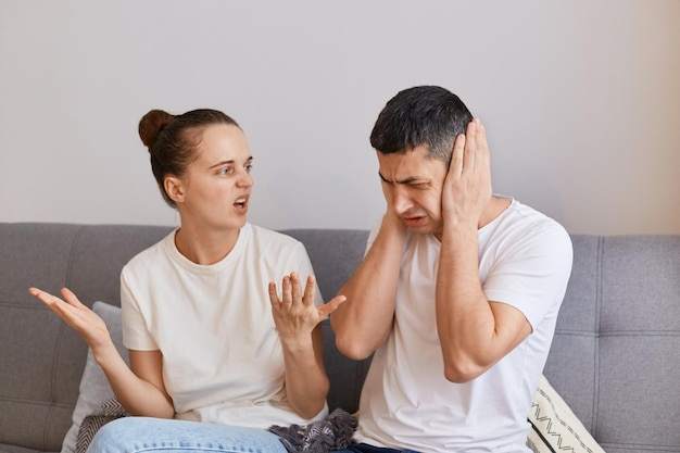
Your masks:
M160 351L130 351L130 369L113 344L103 319L84 305L71 290L62 289L63 300L38 288L30 288L28 292L56 313L87 342L114 394L127 412L160 418L172 418L175 415L172 400L163 385L163 357Z

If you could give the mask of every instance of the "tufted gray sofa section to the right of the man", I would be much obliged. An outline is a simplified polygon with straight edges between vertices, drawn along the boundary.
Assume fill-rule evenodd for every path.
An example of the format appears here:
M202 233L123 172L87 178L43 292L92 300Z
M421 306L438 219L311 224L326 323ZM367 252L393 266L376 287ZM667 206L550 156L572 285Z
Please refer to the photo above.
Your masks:
M680 452L680 236L571 240L545 376L607 453Z

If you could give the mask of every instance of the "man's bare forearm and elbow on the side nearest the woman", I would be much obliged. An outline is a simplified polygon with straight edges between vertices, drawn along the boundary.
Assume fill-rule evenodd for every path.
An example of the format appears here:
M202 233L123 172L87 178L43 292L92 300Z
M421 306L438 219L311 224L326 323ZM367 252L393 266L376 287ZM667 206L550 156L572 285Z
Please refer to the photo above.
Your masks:
M340 352L363 360L385 342L394 318L396 281L406 230L393 210L350 280L340 289L347 302L330 316Z

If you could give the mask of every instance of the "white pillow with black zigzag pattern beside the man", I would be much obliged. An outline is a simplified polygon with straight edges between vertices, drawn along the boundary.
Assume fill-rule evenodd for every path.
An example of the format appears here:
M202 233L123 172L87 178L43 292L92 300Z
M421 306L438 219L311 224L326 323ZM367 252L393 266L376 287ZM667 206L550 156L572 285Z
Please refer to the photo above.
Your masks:
M527 445L536 453L605 453L545 376L529 412Z

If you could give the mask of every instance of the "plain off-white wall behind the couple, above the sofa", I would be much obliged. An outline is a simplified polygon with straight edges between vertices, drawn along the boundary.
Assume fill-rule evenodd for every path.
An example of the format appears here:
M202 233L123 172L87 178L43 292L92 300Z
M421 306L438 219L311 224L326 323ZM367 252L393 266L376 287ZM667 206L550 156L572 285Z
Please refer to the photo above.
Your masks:
M137 124L210 106L250 221L368 228L368 135L414 85L488 130L494 190L570 232L680 234L680 1L0 0L0 222L174 225Z

